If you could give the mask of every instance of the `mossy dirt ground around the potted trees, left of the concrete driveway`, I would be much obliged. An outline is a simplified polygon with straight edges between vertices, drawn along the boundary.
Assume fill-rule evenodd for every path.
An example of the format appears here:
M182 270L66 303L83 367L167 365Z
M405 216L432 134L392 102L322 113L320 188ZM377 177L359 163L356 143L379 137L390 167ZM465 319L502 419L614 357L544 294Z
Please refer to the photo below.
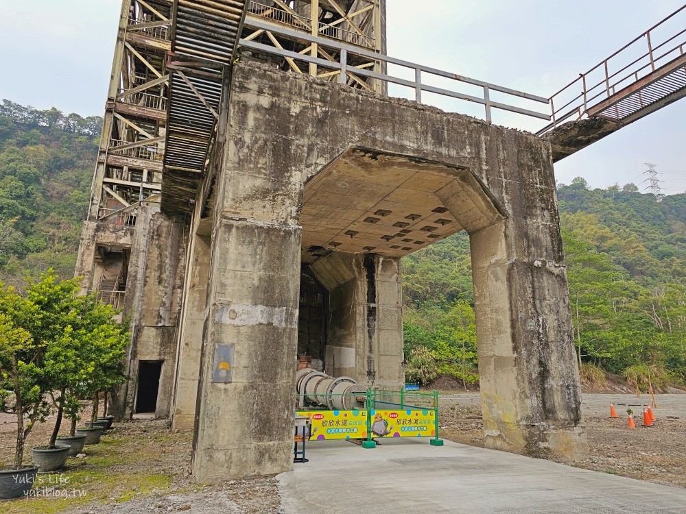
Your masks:
M0 414L1 461L14 455L12 416ZM54 417L34 428L30 448L47 444ZM66 433L66 430L64 430ZM190 474L191 434L172 433L167 420L115 423L85 456L70 458L60 473L39 474L32 497L3 503L3 514L276 514L273 477L232 480L222 487L196 485Z

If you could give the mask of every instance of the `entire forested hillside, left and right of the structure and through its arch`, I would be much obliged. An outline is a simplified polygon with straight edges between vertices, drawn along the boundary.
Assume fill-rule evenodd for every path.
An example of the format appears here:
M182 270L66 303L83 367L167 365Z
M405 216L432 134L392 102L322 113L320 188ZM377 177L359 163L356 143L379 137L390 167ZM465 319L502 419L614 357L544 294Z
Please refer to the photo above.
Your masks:
M102 120L0 106L0 281L73 274ZM558 188L582 376L686 380L686 195ZM407 380L478 380L469 238L403 260Z

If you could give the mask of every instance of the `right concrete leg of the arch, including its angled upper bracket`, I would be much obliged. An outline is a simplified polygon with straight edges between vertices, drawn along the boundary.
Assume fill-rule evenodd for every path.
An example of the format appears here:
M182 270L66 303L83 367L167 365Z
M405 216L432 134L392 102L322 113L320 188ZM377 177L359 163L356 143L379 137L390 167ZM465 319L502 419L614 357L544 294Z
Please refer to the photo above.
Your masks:
M486 447L582 457L588 445L554 188L519 195L512 217L469 171L438 196L470 234Z

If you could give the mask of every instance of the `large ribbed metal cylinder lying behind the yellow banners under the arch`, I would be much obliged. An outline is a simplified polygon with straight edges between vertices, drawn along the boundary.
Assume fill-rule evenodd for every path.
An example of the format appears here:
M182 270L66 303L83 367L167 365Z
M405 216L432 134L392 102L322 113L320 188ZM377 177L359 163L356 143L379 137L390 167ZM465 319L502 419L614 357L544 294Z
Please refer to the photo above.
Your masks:
M307 400L334 411L364 408L366 400L366 388L354 378L334 378L312 368L298 371L296 391L301 397L301 404Z

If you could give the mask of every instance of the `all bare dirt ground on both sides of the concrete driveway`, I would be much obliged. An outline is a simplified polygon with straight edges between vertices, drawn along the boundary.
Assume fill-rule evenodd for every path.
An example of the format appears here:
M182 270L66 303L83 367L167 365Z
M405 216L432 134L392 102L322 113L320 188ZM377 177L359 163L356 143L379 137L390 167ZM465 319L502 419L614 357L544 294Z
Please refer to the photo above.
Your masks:
M652 428L626 426L626 406L646 404L646 395L584 394L589 458L578 467L686 487L686 394L658 395L658 418ZM619 419L609 418L617 404ZM635 413L640 406L632 406ZM54 418L38 425L27 441L30 448L47 443ZM13 454L14 424L0 414L1 459ZM440 435L445 439L483 446L480 396L476 392L443 391ZM85 456L72 458L58 474L40 475L26 500L3 504L3 514L80 513L133 514L187 511L189 514L279 512L274 478L237 480L221 487L196 485L190 475L191 435L174 434L166 420L134 420L115 424L101 443L86 446Z

